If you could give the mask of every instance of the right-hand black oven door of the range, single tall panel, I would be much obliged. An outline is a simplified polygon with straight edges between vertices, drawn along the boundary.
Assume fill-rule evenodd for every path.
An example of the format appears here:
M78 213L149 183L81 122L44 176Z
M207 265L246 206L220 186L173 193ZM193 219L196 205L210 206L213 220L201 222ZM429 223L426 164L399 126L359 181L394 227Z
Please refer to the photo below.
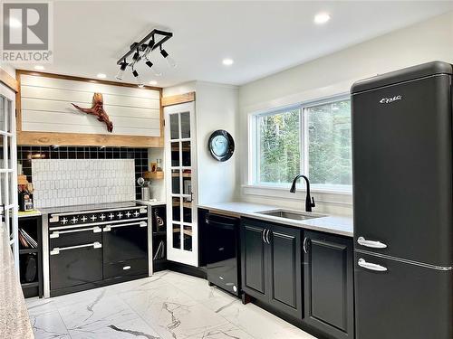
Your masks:
M125 222L102 229L104 278L148 274L148 223Z

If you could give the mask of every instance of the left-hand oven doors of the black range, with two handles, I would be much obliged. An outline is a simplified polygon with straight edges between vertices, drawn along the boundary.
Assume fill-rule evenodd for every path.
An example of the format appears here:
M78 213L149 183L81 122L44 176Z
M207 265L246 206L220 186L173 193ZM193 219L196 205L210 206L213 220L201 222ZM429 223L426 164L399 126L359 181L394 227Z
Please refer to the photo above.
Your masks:
M49 238L52 290L102 280L100 227L51 229Z

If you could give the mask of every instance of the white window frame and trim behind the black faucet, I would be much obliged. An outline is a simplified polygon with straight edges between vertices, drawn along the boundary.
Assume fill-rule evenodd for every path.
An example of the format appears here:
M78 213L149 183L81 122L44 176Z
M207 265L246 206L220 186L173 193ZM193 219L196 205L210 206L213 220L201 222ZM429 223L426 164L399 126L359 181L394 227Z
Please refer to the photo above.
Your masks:
M301 172L307 174L310 178L309 173L309 133L307 129L308 114L307 109L313 108L316 106L322 106L326 104L331 104L333 102L351 100L351 95L348 94L338 94L325 99L313 99L309 101L300 102L293 105L287 105L279 108L271 108L265 111L252 113L250 116L250 127L249 127L249 174L248 174L248 184L255 187L269 187L269 188L287 188L289 184L283 183L265 183L260 182L260 158L259 158L259 143L260 143L260 134L258 133L258 119L266 116L271 116L279 113L288 112L289 110L300 109L299 117L299 145L300 145L300 168ZM304 184L297 184L298 187L304 190ZM311 184L313 191L319 192L332 192L332 193L352 193L352 184Z

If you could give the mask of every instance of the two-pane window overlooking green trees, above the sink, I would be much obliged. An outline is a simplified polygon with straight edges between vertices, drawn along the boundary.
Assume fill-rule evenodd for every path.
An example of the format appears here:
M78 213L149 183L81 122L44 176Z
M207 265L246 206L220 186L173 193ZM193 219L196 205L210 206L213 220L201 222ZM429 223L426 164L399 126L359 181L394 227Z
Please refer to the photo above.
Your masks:
M315 187L351 188L349 98L258 114L254 121L255 184L283 186L306 174Z

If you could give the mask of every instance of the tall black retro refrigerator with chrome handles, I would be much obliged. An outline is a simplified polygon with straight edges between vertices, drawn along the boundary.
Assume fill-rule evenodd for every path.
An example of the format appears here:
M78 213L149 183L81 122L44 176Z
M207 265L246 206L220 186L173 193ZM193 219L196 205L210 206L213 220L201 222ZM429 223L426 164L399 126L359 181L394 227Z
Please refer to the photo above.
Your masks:
M352 86L357 339L453 338L452 65Z

